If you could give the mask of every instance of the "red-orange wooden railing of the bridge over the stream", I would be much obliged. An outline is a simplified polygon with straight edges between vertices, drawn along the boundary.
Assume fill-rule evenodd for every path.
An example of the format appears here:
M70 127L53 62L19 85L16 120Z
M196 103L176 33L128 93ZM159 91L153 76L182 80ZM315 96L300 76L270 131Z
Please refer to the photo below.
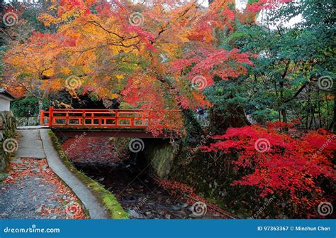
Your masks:
M145 129L157 123L163 129L179 129L177 121L171 117L179 110L127 110L127 109L54 109L40 112L40 124L51 127L87 127L87 128L133 128ZM167 120L162 120L162 116ZM169 120L168 120L169 118Z

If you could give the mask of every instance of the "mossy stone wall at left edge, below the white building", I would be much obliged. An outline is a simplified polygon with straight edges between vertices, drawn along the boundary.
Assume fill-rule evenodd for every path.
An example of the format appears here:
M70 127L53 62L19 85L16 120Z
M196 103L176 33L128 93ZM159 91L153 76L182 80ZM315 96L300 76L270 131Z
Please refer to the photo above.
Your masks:
M0 112L0 180L1 173L6 169L9 158L17 148L16 136L16 119L13 113L9 111Z

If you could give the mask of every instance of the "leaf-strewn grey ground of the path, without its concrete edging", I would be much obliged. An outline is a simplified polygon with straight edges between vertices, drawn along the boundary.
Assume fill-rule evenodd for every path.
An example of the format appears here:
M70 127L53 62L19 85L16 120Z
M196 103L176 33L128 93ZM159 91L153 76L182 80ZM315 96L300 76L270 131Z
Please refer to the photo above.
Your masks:
M45 159L19 158L0 183L0 218L86 218L77 198Z

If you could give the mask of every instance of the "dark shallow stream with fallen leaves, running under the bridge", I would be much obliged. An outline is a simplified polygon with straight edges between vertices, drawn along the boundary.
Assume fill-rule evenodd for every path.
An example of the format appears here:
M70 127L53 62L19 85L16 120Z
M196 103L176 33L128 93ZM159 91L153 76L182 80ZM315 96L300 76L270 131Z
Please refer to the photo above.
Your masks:
M201 217L195 215L191 205L169 195L150 178L146 169L136 166L134 161L118 158L113 141L86 137L77 142L75 148L67 149L73 144L74 139L67 139L62 145L69 160L79 171L113 193L130 218L220 218L210 212Z

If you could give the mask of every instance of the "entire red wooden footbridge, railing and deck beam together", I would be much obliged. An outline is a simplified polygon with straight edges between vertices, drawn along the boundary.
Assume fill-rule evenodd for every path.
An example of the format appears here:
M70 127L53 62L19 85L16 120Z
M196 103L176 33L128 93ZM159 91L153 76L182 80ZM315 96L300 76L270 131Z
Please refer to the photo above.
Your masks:
M144 137L152 137L146 129L153 124L165 131L180 129L181 125L176 119L174 120L174 115L180 112L179 110L55 109L50 107L49 112L44 110L40 112L40 125L57 128L57 131L67 132L68 135L78 134L78 131L88 131L91 134L94 132L94 135L110 132L109 136L116 136L118 133L118 136L147 134ZM159 114L161 119L158 123Z

